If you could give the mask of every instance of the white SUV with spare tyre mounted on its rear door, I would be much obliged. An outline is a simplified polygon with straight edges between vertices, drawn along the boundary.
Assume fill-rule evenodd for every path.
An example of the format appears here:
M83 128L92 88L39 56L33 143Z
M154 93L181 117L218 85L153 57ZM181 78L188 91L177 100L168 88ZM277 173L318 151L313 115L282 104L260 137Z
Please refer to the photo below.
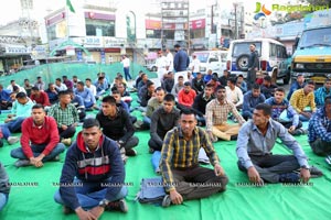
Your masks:
M281 78L284 84L290 80L290 58L286 47L271 38L235 40L229 44L226 68L232 75L243 75L248 70L249 45L255 44L258 52L259 69L267 72L275 80Z

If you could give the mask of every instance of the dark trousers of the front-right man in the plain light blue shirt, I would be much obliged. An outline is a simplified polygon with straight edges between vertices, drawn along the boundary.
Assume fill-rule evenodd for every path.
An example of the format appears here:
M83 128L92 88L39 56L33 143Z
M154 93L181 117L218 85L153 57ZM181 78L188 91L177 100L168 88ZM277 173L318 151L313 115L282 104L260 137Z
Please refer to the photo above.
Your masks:
M279 183L279 174L291 173L300 165L298 160L293 155L249 155L254 167L258 172L259 176L269 183ZM238 168L242 172L247 173L247 169L238 162Z

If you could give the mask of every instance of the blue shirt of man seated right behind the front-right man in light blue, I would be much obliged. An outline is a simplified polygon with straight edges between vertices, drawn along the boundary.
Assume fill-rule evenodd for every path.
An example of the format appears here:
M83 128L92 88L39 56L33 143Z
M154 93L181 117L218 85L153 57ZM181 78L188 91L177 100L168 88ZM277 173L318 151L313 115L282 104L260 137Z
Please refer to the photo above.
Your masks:
M271 106L271 118L276 121L279 120L279 117L284 110L287 110L287 118L292 119L292 125L298 127L299 124L299 114L289 103L288 100L284 99L280 103L277 103L274 97L268 98L265 103Z

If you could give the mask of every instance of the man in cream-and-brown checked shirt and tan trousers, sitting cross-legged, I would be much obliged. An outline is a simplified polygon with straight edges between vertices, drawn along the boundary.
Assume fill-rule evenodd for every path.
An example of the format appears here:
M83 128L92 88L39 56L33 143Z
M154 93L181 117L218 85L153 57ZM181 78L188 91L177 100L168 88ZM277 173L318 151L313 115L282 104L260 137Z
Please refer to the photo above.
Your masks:
M206 131L213 142L216 142L217 138L236 140L241 125L246 122L235 105L226 100L226 90L222 85L216 88L216 99L207 103L205 112ZM227 124L228 113L232 113L239 124Z

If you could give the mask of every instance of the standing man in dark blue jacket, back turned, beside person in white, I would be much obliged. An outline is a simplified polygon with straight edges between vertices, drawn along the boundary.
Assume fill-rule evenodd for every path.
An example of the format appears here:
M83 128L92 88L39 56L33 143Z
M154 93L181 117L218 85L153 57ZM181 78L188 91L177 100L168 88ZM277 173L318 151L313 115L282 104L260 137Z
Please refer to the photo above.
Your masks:
M190 58L183 50L181 50L181 46L179 44L174 45L175 55L173 57L173 68L175 70L175 77L174 77L174 84L177 84L177 79L179 76L184 77L184 81L188 80L188 73L186 68L190 64Z

